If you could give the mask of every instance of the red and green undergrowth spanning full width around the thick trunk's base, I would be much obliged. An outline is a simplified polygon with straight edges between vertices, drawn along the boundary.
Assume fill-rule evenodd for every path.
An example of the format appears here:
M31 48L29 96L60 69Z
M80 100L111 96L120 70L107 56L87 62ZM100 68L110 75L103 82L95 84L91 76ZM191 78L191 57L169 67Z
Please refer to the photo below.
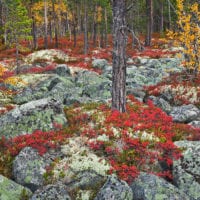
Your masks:
M74 105L65 109L68 127L56 130L18 136L0 140L0 173L10 176L13 158L26 146L36 148L40 155L50 148L66 144L71 137L81 136L85 145L100 157L105 158L121 179L131 182L140 171L157 174L171 179L174 159L181 157L181 151L174 141L198 140L199 129L188 125L174 124L152 102L143 104L128 98L127 112L111 111L108 105L98 103ZM191 131L188 131L191 130ZM167 166L163 170L159 163Z

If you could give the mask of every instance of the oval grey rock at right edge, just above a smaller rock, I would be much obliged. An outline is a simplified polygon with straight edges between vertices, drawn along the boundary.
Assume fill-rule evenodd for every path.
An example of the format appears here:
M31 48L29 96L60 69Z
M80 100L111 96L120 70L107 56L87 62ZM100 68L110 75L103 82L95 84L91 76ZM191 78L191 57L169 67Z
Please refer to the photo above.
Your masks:
M170 115L174 122L188 123L200 115L200 110L193 104L173 107Z

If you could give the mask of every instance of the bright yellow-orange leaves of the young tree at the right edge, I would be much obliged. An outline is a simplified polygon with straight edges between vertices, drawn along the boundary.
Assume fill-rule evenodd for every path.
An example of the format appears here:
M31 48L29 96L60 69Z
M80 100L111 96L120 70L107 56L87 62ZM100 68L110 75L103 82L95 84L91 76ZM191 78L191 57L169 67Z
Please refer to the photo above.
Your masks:
M175 40L176 46L184 48L185 67L200 71L200 5L192 4L187 10L184 7L185 0L177 0L177 25L179 30L169 31L169 39Z

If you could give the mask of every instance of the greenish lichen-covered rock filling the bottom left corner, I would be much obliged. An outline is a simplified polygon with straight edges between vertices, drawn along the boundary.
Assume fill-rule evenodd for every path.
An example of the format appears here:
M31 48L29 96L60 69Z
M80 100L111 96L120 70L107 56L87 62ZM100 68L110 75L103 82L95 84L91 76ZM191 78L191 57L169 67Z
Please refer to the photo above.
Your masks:
M1 200L21 200L23 195L31 197L32 192L28 189L15 183L12 180L0 175L0 199Z

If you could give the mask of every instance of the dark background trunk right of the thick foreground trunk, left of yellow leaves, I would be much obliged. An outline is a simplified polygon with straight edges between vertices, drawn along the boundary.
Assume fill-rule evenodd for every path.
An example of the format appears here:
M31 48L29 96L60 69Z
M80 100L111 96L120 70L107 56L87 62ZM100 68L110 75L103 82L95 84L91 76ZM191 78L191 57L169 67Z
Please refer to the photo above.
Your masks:
M147 33L145 46L151 46L151 37L153 31L153 1L146 0L146 15L147 15Z

